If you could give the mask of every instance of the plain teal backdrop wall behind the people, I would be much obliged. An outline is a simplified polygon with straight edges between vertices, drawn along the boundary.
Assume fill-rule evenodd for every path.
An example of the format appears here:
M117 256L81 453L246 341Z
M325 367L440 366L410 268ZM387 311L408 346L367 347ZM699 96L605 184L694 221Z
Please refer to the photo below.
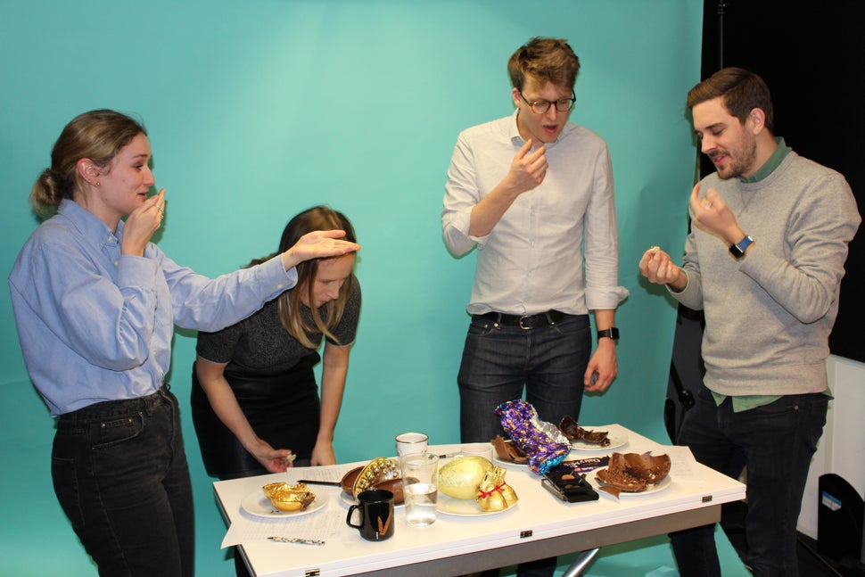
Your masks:
M456 442L474 254L455 260L441 242L450 153L459 130L513 110L505 64L517 46L566 37L583 66L572 120L612 152L631 293L618 313L620 375L586 400L581 422L664 441L675 308L640 283L637 261L683 241L696 155L683 101L699 79L701 28L693 0L2 0L0 271L37 226L29 187L63 125L94 108L134 112L167 189L158 242L179 263L211 276L237 268L317 203L353 220L364 309L337 456L391 454L409 429ZM54 428L5 290L0 344L0 573L92 574L54 499ZM193 359L194 334L178 332L171 383L184 402ZM184 419L199 573L231 574Z

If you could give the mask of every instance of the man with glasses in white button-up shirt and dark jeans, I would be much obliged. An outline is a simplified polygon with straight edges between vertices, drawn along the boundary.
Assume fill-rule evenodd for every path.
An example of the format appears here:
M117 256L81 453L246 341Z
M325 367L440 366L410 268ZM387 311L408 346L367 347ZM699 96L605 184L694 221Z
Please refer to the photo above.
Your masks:
M495 409L523 388L558 425L616 375L614 311L628 291L618 285L609 152L568 122L579 70L566 41L531 39L508 62L514 114L457 138L442 235L456 256L478 249L457 377L463 442L502 434Z

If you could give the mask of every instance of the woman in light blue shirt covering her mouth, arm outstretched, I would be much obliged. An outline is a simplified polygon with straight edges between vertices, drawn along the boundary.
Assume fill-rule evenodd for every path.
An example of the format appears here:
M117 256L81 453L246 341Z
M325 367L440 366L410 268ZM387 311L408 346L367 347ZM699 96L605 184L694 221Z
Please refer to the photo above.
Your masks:
M30 380L57 417L54 491L103 575L194 574L191 483L164 382L174 326L232 325L296 284L303 260L359 249L317 231L257 267L197 275L151 242L165 191L150 194L150 161L136 120L71 120L30 194L46 219L9 276Z

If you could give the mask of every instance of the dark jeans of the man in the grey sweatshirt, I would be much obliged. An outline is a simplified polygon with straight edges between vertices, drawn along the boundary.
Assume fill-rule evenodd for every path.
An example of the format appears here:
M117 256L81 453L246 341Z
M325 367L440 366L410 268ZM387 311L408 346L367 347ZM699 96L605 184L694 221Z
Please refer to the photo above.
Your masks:
M786 395L734 413L705 388L685 414L678 444L700 463L731 477L747 466L747 564L757 577L796 577L796 521L811 457L826 424L828 396ZM721 575L714 525L671 534L682 577Z

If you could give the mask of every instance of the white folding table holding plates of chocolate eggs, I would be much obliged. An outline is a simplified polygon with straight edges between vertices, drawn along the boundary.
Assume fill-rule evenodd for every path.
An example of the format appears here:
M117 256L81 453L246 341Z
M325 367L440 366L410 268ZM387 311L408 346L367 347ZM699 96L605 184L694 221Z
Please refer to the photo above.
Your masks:
M680 448L664 447L620 425L603 427L611 436L625 436L628 443L620 452L672 453ZM458 445L439 445L440 453L457 451ZM604 453L573 451L569 459L594 457ZM369 459L378 457L370 455ZM342 473L367 461L333 467L290 469L289 474L268 474L233 481L214 482L214 491L227 523L254 529L261 521L242 510L241 501L268 482L304 478L322 479ZM410 527L403 507L396 508L395 532L390 540L370 542L344 522L348 503L337 487L310 486L328 492L325 507L305 515L342 515L336 533L325 545L278 543L266 539L245 540L243 556L251 572L259 577L337 577L375 574L410 577L461 575L495 567L515 565L532 559L588 551L630 540L678 531L721 520L721 504L745 498L745 485L696 464L685 466L676 477L673 458L671 482L663 489L644 495L615 499L604 492L600 499L585 503L564 503L540 485L540 477L525 466L506 466L506 481L519 497L515 507L497 515L438 515L433 525ZM313 474L317 476L312 476ZM319 517L324 520L325 516ZM229 533L231 534L231 533Z

